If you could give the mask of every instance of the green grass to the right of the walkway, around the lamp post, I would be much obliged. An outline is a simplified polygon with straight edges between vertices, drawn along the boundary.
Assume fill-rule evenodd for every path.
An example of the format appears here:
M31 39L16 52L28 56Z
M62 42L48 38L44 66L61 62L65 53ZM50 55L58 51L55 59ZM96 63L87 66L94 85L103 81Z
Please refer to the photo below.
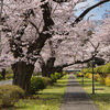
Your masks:
M81 85L81 78L77 78ZM84 78L82 88L89 94L91 99L98 106L100 110L110 110L110 87L101 85L98 81L95 81L95 95L92 92L92 80Z

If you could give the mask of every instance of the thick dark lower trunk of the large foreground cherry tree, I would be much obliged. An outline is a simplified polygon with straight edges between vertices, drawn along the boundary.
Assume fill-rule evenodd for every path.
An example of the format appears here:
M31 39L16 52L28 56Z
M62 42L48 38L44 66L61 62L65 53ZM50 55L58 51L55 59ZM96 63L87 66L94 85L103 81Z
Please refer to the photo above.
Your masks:
M20 86L25 94L30 94L30 82L34 70L34 65L26 65L24 62L18 62L12 65L13 85Z

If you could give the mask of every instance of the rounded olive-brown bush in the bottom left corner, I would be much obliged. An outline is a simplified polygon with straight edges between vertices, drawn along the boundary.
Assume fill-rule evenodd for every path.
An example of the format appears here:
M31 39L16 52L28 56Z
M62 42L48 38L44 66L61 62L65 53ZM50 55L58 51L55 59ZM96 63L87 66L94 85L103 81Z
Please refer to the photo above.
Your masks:
M0 107L11 107L24 95L24 90L14 85L0 86Z

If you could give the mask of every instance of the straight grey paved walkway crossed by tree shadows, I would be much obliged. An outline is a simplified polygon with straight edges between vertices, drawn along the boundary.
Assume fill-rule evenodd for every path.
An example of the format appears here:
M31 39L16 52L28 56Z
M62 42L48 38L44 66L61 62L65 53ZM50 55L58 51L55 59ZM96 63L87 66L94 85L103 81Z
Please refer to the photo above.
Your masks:
M99 110L79 82L69 75L61 110Z

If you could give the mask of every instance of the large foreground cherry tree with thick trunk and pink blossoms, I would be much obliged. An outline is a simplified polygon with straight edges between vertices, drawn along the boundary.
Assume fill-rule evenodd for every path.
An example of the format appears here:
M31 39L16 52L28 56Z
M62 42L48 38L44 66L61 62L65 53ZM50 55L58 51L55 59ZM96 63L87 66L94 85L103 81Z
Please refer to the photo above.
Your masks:
M30 92L34 64L45 42L55 34L68 35L67 26L75 28L90 10L110 0L99 1L76 18L74 8L84 1L4 0L2 38L7 38L7 47L14 58L13 84L22 87L26 94Z

